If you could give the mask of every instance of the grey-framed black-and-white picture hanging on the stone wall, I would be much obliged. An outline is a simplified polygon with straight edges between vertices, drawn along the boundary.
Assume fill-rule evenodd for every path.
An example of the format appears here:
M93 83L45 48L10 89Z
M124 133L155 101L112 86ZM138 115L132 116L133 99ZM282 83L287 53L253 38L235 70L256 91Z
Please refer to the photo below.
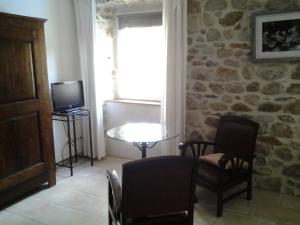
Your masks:
M252 14L252 61L300 61L300 9Z

